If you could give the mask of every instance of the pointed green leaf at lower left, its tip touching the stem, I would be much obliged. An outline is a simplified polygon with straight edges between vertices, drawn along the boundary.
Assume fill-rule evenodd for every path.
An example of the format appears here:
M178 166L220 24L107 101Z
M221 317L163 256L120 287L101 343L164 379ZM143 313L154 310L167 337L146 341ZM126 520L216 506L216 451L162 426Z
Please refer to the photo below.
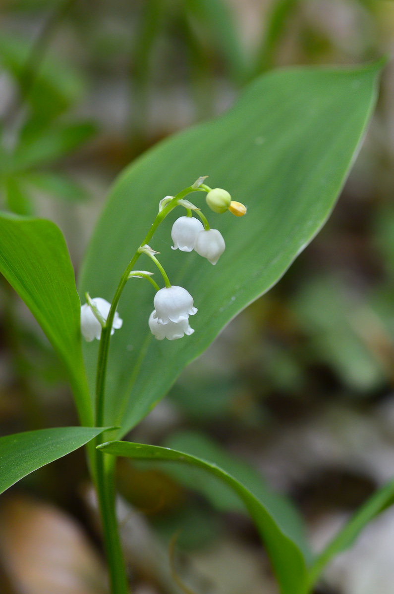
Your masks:
M0 493L103 431L102 427L56 427L0 437Z

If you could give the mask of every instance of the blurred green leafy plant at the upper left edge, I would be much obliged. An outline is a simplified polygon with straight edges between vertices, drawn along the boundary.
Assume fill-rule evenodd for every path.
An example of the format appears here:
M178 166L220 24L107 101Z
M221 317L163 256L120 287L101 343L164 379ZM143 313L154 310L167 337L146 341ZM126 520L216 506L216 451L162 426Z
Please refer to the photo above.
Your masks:
M0 68L12 77L19 97L2 118L0 191L10 211L25 215L34 211L37 190L71 202L87 199L82 185L48 168L97 131L90 121L65 116L82 95L82 77L52 56L36 55L35 47L21 37L0 34Z

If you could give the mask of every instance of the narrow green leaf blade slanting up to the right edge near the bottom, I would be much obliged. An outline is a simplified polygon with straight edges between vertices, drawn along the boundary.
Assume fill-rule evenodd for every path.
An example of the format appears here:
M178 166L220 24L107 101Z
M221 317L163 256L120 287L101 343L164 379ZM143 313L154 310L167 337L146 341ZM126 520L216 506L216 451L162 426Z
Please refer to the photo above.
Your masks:
M354 514L349 522L334 536L330 544L318 555L314 561L310 574L311 586L337 554L352 546L361 530L374 519L375 516L384 511L394 503L394 481L388 482L368 499L362 507Z

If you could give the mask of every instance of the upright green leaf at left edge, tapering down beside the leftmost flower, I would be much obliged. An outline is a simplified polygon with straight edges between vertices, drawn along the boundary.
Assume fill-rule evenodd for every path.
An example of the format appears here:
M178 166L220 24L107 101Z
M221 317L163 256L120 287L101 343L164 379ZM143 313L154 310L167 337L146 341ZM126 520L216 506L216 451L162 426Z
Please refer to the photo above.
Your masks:
M32 311L62 359L80 419L91 425L80 344L80 301L61 230L48 220L0 214L0 273Z

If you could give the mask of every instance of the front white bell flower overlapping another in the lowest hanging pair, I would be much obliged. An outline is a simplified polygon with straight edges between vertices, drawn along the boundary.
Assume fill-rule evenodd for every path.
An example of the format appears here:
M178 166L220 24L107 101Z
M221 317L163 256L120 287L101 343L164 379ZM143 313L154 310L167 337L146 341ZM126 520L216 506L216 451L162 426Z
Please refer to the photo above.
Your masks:
M183 287L164 287L158 290L153 302L153 317L157 318L159 324L178 323L197 313L197 308L193 307L192 296Z

